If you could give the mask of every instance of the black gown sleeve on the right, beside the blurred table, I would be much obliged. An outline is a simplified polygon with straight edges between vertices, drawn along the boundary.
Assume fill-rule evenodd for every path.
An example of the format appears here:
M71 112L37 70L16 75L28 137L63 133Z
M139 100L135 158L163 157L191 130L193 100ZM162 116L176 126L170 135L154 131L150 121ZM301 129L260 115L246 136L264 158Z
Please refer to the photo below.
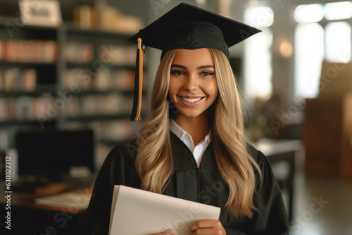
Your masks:
M252 151L253 155L253 151ZM286 235L289 232L289 221L279 188L268 159L260 151L255 151L256 159L263 181L256 183L258 192L253 201L258 211L251 219L241 224L225 227L227 235L270 234Z

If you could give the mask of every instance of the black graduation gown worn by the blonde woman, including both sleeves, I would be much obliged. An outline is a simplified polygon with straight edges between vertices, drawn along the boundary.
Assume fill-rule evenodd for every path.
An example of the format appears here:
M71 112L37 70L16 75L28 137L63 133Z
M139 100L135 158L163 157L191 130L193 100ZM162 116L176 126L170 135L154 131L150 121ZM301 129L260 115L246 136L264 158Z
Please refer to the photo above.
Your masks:
M164 194L224 208L229 189L218 171L212 144L210 143L204 151L198 168L189 148L172 132L170 141L174 170ZM136 155L137 139L116 146L109 153L96 178L82 234L108 234L113 186L140 186L140 179L134 167ZM222 210L220 222L228 235L287 234L287 212L270 164L263 153L253 147L251 155L263 175L262 186L257 182L258 195L253 199L258 212L255 212L251 219L233 222L225 210Z

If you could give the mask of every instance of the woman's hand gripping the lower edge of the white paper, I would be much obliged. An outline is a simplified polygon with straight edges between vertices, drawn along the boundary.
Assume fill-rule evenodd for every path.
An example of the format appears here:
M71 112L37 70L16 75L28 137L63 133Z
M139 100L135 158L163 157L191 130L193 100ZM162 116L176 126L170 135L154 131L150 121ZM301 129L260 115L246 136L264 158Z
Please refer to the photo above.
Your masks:
M226 235L219 220L199 220L191 225L192 235Z

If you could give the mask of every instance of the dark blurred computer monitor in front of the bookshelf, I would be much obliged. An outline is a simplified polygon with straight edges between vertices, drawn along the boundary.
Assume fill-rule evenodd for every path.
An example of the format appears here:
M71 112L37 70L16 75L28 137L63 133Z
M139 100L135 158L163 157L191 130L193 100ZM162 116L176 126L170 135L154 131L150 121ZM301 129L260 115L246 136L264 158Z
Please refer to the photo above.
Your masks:
M70 167L94 172L92 130L30 130L15 136L19 176L45 176L59 181Z

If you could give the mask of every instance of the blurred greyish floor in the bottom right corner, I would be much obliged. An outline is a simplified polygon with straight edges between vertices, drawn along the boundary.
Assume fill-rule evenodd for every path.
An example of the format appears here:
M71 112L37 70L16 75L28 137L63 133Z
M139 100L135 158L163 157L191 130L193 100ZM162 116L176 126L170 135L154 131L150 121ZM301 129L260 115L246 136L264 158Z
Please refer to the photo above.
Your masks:
M351 235L352 180L317 177L298 169L290 235Z

